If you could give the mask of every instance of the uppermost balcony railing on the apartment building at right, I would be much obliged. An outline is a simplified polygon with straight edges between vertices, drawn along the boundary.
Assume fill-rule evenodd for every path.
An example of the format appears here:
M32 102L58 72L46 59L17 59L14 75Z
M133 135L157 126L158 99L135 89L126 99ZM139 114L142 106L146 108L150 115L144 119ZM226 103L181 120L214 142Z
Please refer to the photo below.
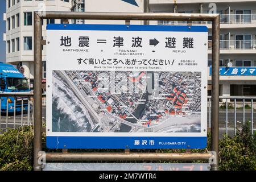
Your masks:
M221 24L245 24L256 23L256 14L222 14ZM187 21L158 20L159 25L187 24ZM192 21L192 24L212 24L208 21Z

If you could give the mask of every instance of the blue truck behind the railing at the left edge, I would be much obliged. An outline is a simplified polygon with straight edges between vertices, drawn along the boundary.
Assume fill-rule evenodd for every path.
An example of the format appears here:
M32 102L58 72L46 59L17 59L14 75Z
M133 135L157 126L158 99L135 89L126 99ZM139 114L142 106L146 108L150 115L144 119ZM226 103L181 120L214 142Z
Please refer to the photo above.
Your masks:
M30 93L30 87L27 78L14 68L13 65L0 62L0 98L1 98L1 113L14 113L27 111L28 97L27 96L5 96L4 94L26 94ZM2 95L1 95L2 93ZM15 100L15 102L14 102ZM8 102L8 109L7 109ZM22 104L23 102L23 104ZM14 107L15 103L15 107Z

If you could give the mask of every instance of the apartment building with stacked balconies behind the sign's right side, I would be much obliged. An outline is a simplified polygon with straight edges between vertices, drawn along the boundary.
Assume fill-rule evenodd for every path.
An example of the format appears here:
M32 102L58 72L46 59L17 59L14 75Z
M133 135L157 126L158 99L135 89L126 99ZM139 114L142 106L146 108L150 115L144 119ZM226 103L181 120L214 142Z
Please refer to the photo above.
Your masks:
M256 1L254 0L150 0L150 11L157 13L220 14L220 95L256 96ZM157 21L151 24L185 25L183 21ZM211 22L208 32L208 94L211 89Z

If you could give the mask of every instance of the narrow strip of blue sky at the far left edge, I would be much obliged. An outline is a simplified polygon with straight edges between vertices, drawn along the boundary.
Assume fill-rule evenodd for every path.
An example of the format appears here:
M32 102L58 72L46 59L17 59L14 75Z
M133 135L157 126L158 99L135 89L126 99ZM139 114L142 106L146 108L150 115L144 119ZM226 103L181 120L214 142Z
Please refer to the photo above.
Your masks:
M5 21L3 20L3 13L6 12L6 1L0 0L0 61L5 62L5 41L3 41L3 33L6 32Z

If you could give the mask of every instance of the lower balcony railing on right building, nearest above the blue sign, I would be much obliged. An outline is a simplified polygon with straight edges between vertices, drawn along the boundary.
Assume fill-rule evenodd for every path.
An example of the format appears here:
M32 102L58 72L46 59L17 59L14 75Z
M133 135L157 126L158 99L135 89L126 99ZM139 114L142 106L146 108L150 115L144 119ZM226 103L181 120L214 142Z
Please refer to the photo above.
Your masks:
M208 40L208 49L212 49L212 40ZM256 50L256 40L220 40L220 49Z

